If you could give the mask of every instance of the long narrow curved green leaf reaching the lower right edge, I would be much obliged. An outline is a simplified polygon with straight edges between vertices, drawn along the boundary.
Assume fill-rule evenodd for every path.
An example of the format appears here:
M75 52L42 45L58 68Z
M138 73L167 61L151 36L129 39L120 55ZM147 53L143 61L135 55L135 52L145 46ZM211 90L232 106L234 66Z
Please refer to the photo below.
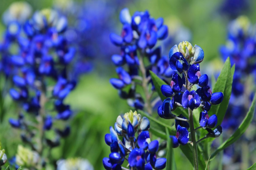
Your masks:
M242 123L239 125L238 129L234 132L234 134L229 139L227 139L224 143L222 143L222 145L219 146L217 150L213 152L213 154L211 154L211 159L213 159L214 156L216 156L220 151L222 151L223 149L225 149L226 147L230 146L232 143L237 141L243 135L243 133L245 133L246 129L248 128L251 121L253 120L255 107L256 107L256 93L251 103L251 107L249 111L246 113L246 116L243 119Z

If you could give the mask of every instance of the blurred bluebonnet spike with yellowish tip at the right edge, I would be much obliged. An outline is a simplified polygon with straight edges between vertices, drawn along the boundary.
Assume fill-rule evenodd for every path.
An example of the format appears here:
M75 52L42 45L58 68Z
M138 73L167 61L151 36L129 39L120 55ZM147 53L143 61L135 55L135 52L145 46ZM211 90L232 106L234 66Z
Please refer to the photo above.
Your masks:
M220 47L220 53L223 60L230 57L231 65L235 64L235 73L223 126L236 129L249 107L251 94L255 90L250 79L256 81L256 41L253 25L245 16L233 20L228 30L227 43Z

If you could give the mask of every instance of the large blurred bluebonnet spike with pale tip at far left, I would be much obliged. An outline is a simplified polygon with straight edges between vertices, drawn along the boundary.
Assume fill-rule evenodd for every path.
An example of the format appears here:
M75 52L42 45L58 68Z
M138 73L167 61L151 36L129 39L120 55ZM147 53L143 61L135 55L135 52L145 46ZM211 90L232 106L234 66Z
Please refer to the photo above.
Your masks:
M55 122L66 121L72 116L70 106L63 103L76 86L69 72L75 49L63 36L66 28L64 16L44 9L36 11L23 24L9 22L0 44L1 71L13 84L9 94L18 103L20 112L18 119L11 118L9 122L14 128L23 130L22 140L39 154L45 144L58 146L60 137L70 132L70 127L64 123L52 128ZM55 131L55 139L44 135L51 129ZM41 143L34 139L38 133Z

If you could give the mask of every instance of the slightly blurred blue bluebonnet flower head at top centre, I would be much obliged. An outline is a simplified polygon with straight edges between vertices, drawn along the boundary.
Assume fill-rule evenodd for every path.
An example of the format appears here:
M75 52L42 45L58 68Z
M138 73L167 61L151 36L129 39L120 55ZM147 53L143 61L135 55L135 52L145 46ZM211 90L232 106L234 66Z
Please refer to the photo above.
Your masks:
M121 36L110 34L111 42L121 48L120 54L112 56L112 61L117 66L118 78L110 79L110 83L119 90L121 98L129 99L128 104L131 107L136 109L145 107L151 113L151 98L148 91L148 85L151 83L149 71L163 77L171 77L173 73L168 66L168 58L161 56L161 47L154 48L158 40L167 37L168 28L163 24L162 18L151 18L148 11L137 11L131 16L129 10L125 8L120 12L120 21L123 24ZM124 69L124 65L127 66L127 70ZM146 99L136 93L136 85L139 84L137 81L141 81Z

